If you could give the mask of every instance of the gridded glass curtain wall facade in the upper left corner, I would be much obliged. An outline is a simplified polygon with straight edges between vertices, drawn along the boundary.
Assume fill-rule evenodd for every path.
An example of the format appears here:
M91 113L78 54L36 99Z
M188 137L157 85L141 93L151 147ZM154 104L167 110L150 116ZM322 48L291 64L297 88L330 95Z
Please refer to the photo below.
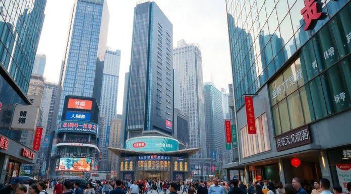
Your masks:
M46 0L0 1L0 62L27 93Z

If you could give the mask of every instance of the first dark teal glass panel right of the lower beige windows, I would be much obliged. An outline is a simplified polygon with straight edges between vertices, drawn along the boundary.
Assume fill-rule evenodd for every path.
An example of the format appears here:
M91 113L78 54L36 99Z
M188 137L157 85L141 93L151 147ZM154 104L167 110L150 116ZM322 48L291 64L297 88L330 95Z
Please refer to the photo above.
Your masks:
M327 116L327 109L324 101L324 94L319 77L313 79L310 83L311 98L316 119L321 119Z

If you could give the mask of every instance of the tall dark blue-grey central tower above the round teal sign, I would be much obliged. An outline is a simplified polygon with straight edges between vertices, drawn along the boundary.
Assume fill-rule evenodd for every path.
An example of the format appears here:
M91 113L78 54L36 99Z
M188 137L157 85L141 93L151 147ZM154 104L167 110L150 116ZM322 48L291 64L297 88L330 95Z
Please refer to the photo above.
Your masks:
M125 125L128 138L173 133L172 28L156 3L136 6Z

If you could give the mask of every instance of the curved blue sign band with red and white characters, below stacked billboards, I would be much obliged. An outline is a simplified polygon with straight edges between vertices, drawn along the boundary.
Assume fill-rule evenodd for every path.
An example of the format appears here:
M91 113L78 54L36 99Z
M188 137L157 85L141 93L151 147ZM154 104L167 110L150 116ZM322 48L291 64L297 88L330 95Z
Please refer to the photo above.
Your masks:
M89 121L60 121L57 125L57 132L78 132L96 135L98 125Z

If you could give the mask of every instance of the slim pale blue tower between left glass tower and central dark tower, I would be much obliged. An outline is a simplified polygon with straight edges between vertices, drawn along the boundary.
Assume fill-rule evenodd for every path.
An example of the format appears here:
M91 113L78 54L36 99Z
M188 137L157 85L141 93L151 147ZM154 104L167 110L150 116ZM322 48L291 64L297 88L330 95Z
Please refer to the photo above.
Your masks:
M106 171L108 169L108 150L105 146L107 127L110 127L112 118L117 114L117 95L118 95L118 81L120 78L120 61L121 50L106 50L105 61L103 67L101 99L100 99L100 116L104 117L104 126L100 125L100 141L99 148L102 154L100 163L100 170Z

